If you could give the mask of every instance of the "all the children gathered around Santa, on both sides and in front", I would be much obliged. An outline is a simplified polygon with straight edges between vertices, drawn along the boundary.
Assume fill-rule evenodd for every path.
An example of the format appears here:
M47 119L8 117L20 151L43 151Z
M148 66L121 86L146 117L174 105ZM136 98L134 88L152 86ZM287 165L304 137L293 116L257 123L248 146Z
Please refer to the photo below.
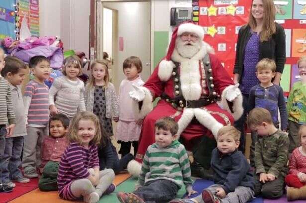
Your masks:
M12 181L26 183L39 176L42 191L58 190L66 200L98 202L102 195L115 190L114 174L133 159L131 145L137 152L142 121L135 120L128 92L132 85L144 84L139 76L140 59L129 57L124 61L126 79L120 84L119 98L109 81L107 61L92 63L85 86L78 79L82 74L79 58L67 57L63 76L56 78L50 89L44 84L51 72L49 60L32 57L29 67L34 79L22 95L20 84L27 67L16 57L4 58L0 49L0 192L12 191ZM215 184L198 191L201 194L195 198L175 199L183 185L188 196L196 191L192 188L187 152L177 140L178 124L170 117L161 118L155 123L156 142L143 158L135 191L117 193L119 201L245 203L259 194L279 198L284 183L288 200L306 199L305 56L299 59L298 69L301 81L294 84L286 109L282 88L272 83L275 63L263 59L256 66L260 84L251 89L247 110L254 149L251 165L237 150L240 132L224 126L218 132L217 148L211 157ZM112 120L118 122L120 160L111 143ZM287 130L289 135L283 132Z

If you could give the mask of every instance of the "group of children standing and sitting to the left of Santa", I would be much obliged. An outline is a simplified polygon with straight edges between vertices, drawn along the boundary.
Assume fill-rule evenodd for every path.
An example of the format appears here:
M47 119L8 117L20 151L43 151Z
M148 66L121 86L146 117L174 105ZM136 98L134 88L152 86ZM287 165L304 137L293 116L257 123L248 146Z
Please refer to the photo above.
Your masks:
M0 49L0 192L12 191L14 182L27 183L29 178L39 177L42 191L58 190L64 199L83 196L86 202L98 202L102 194L115 189L114 173L124 170L133 159L128 144L122 144L127 153L118 158L111 143L112 119L123 123L117 130L118 140L133 143L137 151L141 122L124 105L131 100L127 96L131 84L144 83L139 76L140 59L125 60L126 80L122 83L131 84L130 89L121 85L120 102L105 60L91 65L86 87L78 78L82 66L77 56L64 60L63 76L57 77L50 89L44 83L51 73L49 60L34 56L29 68L34 79L22 95L20 85L27 66L16 57L5 57ZM90 182L82 182L82 178ZM89 183L95 191L83 191Z

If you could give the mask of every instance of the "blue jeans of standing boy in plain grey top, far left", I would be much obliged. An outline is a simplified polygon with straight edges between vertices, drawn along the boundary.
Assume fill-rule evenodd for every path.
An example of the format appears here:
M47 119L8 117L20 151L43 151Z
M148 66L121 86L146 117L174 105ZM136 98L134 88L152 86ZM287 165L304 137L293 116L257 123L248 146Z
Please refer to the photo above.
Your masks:
M21 166L23 140L23 136L6 138L4 161L2 163L2 180L4 183L9 182L11 179L23 177L19 169Z

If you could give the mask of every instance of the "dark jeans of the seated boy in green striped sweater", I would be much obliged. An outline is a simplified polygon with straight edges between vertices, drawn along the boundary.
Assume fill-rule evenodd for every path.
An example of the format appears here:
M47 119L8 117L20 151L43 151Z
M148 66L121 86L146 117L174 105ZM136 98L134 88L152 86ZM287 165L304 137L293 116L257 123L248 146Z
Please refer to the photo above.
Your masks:
M146 203L167 203L174 199L179 188L173 182L165 179L149 181L133 193Z

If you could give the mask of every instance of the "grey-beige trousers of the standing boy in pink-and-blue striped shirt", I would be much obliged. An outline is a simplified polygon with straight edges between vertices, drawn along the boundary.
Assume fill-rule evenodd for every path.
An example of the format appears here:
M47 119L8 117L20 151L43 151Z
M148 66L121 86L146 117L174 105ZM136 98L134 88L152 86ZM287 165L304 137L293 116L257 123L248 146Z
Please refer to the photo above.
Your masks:
M46 127L27 127L27 134L24 137L24 149L22 168L26 173L29 170L35 170L40 165L40 150L42 140L45 136L48 136L49 130Z

